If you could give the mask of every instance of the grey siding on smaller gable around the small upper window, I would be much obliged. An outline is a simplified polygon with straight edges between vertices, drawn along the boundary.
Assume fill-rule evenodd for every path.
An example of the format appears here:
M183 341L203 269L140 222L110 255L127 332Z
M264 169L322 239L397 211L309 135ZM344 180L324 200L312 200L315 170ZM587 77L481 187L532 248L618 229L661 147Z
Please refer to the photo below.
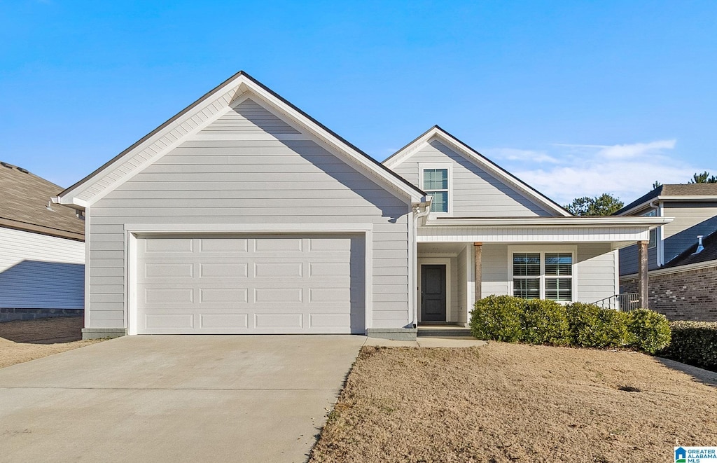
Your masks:
M437 140L424 146L393 170L415 186L423 188L422 178L419 178L419 164L447 162L452 164L453 176L449 181L452 181L453 216L553 215Z

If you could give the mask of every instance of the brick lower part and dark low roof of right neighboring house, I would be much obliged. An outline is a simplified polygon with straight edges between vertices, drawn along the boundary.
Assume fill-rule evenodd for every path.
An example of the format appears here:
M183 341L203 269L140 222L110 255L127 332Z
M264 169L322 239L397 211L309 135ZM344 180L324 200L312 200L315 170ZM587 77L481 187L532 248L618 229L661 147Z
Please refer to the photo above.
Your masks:
M717 322L717 231L695 239L670 262L648 272L650 307L670 320ZM637 292L637 277L621 277L625 292Z

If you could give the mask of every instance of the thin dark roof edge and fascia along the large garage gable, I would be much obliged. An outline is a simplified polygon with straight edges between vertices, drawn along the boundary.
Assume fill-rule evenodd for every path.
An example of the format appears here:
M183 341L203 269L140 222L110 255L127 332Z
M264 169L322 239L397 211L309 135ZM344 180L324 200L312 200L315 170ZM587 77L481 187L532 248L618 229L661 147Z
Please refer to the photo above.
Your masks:
M407 181L407 180L406 180L405 178L403 178L402 176L399 176L399 174L395 173L394 171L391 171L391 169L389 169L389 168L387 168L386 166L384 166L383 164L379 163L379 161L376 161L376 159L371 158L371 156L369 156L368 154L364 153L364 151L361 151L359 148L356 148L355 145L353 145L352 143L349 143L345 138L341 137L341 135L338 135L338 134L337 134L336 132L334 132L333 130L327 128L326 125L323 125L322 123L318 122L318 120L315 120L315 119L312 118L310 115L308 115L307 113L305 113L303 110L300 110L300 109L297 108L295 105L293 105L293 103L291 103L290 101L286 100L286 99L285 99L284 97L282 97L281 95L278 95L274 90L271 90L269 87L267 87L266 85L262 84L262 82L259 82L259 81L256 80L254 77L250 76L249 74L247 74L247 72L244 72L244 71L239 71L239 72L237 72L236 74L232 75L232 77L229 77L229 79L224 80L224 82L222 82L221 84L217 85L217 87L214 87L212 90L209 90L209 92L206 92L204 95L202 95L201 97L199 97L198 100L196 100L195 102L191 103L191 105L189 105L189 106L187 106L186 108L184 108L184 110L181 110L179 113L177 113L176 115L174 115L173 118L167 120L165 123L163 123L162 125L160 125L158 128L152 130L150 133L148 133L147 135L143 136L143 137L142 137L140 140L138 140L136 143L133 143L133 145L131 145L129 148L125 149L125 151L122 151L122 153L119 153L117 156L115 156L114 158L110 159L110 161L107 161L107 162L104 163L102 166L100 166L99 168L95 169L95 171L92 172L92 173L90 173L90 175L86 176L85 178L82 178L82 180L78 181L77 183L75 183L74 185L70 186L69 188L65 188L65 190L62 191L62 193L60 193L58 196L63 196L65 193L67 193L67 191L70 191L70 190L72 190L73 188L77 187L78 185L80 185L80 184L82 184L82 183L85 183L85 181L90 180L90 178L96 176L100 171L103 171L105 168L107 168L108 166L110 166L110 165L112 165L113 163L115 163L115 161L118 161L120 158L122 158L123 156L125 156L125 154L129 153L130 151L132 151L132 150L133 150L134 148L136 148L138 145L141 145L141 144L144 143L146 140L148 140L149 138L153 137L153 135L156 135L156 133L158 133L159 131L161 131L163 128L166 128L166 127L167 127L168 125L170 125L171 123L174 123L175 120L181 118L181 116L185 115L185 114L188 113L190 110L194 109L197 105L201 104L201 102L204 102L204 100L206 100L206 98L208 98L208 97L209 97L210 95L212 95L214 92L217 92L219 89L221 89L222 87L224 87L224 85L227 85L229 82L232 82L232 80L235 80L235 79L237 79L237 77L242 76L242 75L243 75L244 77L247 77L247 79L251 80L252 82L254 82L254 83L255 83L256 85L258 85L259 87L262 87L263 90L266 90L267 92L269 92L269 93L270 93L271 95L273 95L274 97L277 97L281 102L285 103L285 105L290 106L290 108L292 108L293 110L297 111L298 113L300 113L301 115L303 115L305 118L307 118L307 119L310 120L311 122L313 122L313 123L315 123L316 125L318 125L318 126L319 126L320 128L322 128L323 130L326 130L326 132L328 132L328 133L330 133L331 135L333 135L334 137L338 138L338 140L341 141L341 143L344 143L344 144L347 145L349 148L351 148L351 149L353 149L354 151L356 151L357 153L361 154L361 156L364 156L366 159L369 159L369 161L371 161L372 163L376 164L376 166L379 166L379 167L382 168L384 171L390 173L391 176L394 176L395 178L397 178L397 180L401 181L402 183L405 183L407 186L411 187L414 191L417 191L417 192L418 192L419 194L421 194L422 196L427 196L427 194L426 194L425 191L421 190L420 188L417 188L417 186L415 186L413 183Z

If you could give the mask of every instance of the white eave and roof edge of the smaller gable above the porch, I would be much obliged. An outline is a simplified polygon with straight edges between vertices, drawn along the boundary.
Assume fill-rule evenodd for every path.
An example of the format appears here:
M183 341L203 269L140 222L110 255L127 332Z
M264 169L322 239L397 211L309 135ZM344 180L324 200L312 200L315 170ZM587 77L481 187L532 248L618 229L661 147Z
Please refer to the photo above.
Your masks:
M417 153L424 145L427 145L431 140L436 139L439 140L441 143L447 145L449 148L454 149L455 151L457 151L457 153L466 158L468 161L471 161L476 166L495 176L506 185L518 191L520 194L523 194L523 196L526 196L528 199L531 199L532 201L536 202L536 204L543 206L544 208L546 208L547 211L553 211L559 216L572 215L569 211L566 211L564 207L560 206L552 199L543 195L541 192L537 191L532 186L529 186L528 183L525 183L520 178L506 171L504 168L498 166L498 164L494 163L493 161L490 161L490 159L478 153L478 151L475 151L473 148L466 145L461 140L458 140L457 138L455 138L455 136L443 130L438 125L434 125L432 128L429 128L424 133L415 138L412 142L408 143L399 151L386 158L386 160L384 160L384 165L391 169L395 168L396 166L413 156L415 153Z

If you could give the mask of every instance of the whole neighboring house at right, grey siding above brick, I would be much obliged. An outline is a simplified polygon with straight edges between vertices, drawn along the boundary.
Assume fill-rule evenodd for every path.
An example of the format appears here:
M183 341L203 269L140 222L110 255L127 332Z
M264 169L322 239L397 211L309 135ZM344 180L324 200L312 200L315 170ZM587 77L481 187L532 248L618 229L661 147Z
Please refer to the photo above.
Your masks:
M662 185L615 213L671 216L650 231L649 306L670 320L717 321L717 183ZM698 237L706 237L695 253ZM637 292L637 246L620 249L620 288Z

